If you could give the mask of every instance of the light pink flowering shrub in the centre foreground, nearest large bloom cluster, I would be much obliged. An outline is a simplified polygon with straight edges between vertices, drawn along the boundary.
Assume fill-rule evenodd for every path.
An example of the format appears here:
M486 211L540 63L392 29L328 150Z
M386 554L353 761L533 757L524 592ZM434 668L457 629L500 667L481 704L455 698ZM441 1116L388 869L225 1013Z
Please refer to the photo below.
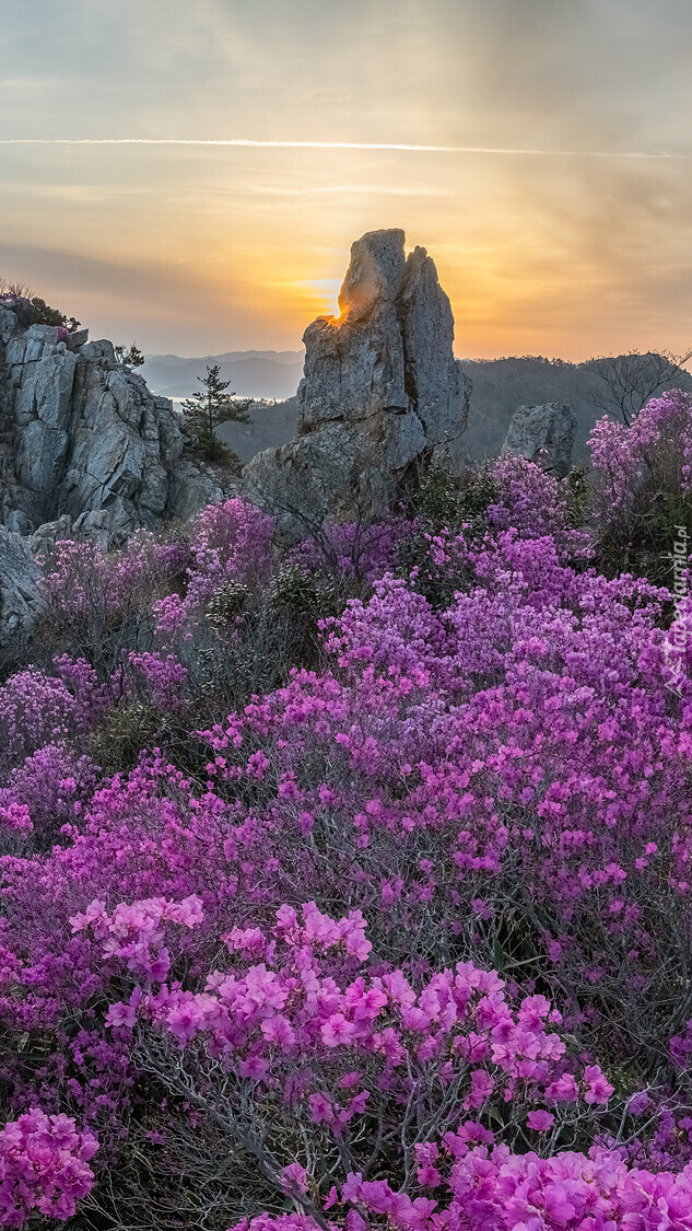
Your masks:
M552 1129L549 1149L584 1134L613 1093L599 1065L568 1055L556 1030L562 1017L545 996L510 1001L494 971L468 961L417 979L417 986L402 970L374 974L359 910L333 920L315 902L300 912L284 905L273 928L234 927L224 937L230 961L197 993L162 982L170 971L165 920L194 927L199 899L119 905L111 918L93 902L71 922L104 942L104 958L117 954L140 976L127 1001L111 1004L108 1025L130 1033L138 1020L152 1023L189 1051L188 1091L254 1144L268 1179L277 1169L261 1144L277 1142L279 1121L286 1167L302 1152L301 1137L313 1139L316 1185L339 1171L345 1181L347 1161L376 1173L387 1156L383 1141L395 1136L403 1179L419 1158L422 1124L442 1133L468 1113L503 1123L509 1141ZM143 1062L175 1093L179 1065L162 1066L152 1046L143 1045ZM219 1071L229 1075L222 1098L210 1078ZM374 1119L380 1145L366 1133Z

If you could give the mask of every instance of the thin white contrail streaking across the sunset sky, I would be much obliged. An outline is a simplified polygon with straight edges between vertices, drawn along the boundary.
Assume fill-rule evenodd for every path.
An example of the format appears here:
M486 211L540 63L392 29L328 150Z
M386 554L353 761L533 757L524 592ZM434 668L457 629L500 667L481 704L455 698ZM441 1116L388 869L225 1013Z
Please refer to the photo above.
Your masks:
M399 150L407 154L501 154L529 158L670 159L692 161L692 154L639 150L541 150L495 145L404 145L393 142L257 142L183 137L2 137L0 145L220 145L242 149Z

